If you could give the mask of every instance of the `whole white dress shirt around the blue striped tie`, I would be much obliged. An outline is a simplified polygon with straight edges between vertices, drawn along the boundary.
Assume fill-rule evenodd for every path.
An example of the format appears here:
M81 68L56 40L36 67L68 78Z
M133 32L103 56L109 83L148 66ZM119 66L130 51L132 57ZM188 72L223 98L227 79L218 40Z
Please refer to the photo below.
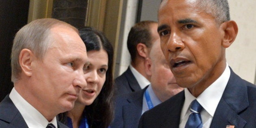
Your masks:
M187 120L189 118L189 106L191 102L195 99L203 107L201 111L203 128L210 128L214 113L219 104L221 96L227 86L228 80L230 78L230 69L228 64L226 64L226 69L221 74L221 76L213 82L207 89L205 89L197 98L195 98L187 88L185 91L185 101L180 115L180 126L179 128L184 128Z

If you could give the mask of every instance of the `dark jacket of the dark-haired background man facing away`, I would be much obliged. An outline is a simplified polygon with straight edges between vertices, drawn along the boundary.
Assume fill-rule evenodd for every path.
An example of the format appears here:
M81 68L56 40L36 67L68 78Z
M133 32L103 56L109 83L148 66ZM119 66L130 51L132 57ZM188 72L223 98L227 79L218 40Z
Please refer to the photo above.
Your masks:
M121 76L115 79L115 86L117 87L116 93L118 95L141 90L138 81L129 67Z

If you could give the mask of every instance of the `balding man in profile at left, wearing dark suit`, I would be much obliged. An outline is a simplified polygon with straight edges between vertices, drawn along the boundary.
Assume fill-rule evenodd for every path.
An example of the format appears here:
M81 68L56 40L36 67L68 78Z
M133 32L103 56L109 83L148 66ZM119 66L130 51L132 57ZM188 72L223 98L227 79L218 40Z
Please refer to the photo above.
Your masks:
M0 103L0 127L67 128L55 116L71 110L87 86L85 64L85 44L73 26L39 19L21 28L11 53L14 88Z

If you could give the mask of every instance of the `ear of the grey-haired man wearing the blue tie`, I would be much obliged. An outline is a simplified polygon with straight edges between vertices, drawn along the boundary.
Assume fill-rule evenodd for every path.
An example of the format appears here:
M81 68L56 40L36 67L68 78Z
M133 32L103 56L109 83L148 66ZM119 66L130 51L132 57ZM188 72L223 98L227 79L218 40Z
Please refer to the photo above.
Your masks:
M222 39L222 46L228 48L236 39L238 33L238 27L233 20L224 22L221 24L221 29L224 31L224 37Z

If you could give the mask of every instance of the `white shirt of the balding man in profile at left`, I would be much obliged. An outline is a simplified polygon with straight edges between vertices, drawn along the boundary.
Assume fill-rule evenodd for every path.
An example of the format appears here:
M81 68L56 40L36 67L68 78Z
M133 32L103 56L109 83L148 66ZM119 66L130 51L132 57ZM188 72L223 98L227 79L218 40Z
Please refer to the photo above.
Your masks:
M16 108L20 111L28 125L28 128L46 128L49 123L52 123L57 128L56 117L54 117L52 121L48 122L48 120L39 111L37 111L37 109L22 98L15 88L11 90L9 97Z

